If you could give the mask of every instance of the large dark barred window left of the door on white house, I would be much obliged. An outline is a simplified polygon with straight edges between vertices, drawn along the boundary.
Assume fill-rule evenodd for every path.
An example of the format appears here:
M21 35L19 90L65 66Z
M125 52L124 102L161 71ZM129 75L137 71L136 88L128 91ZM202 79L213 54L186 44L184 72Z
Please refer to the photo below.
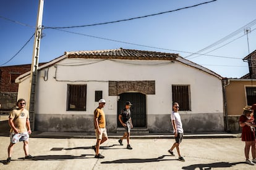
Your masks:
M86 110L86 84L67 84L67 110Z

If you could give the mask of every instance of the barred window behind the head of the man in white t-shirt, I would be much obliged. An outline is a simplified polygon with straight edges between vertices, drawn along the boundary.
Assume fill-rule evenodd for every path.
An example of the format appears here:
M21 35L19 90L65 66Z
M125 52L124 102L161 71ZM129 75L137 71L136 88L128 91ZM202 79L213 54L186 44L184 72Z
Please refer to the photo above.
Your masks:
M190 109L190 90L188 85L173 85L173 102L179 103L179 110L191 110Z

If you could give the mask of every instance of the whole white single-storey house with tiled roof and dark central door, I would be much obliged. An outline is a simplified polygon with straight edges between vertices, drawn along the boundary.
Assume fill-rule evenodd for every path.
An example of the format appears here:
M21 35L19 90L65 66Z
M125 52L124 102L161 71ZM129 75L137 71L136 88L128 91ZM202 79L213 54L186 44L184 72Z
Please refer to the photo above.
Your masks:
M180 105L185 132L224 131L222 77L178 54L114 49L65 52L38 69L35 130L94 132L98 100L109 132L129 100L134 131L172 131L172 102ZM16 79L28 97L30 72Z

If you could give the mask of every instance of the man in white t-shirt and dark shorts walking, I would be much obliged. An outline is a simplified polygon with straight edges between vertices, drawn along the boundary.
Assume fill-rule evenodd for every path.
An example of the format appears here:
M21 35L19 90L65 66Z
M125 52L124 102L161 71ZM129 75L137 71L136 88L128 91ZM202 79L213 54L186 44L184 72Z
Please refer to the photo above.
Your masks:
M179 144L181 144L181 141L183 139L183 127L181 122L181 116L178 113L179 110L179 103L173 102L173 112L171 113L171 123L173 124L173 132L175 136L175 143L173 144L173 147L168 150L169 153L171 153L172 156L174 156L173 149L176 148L177 154L179 155L180 161L185 161L184 158L181 156L181 153L179 152Z

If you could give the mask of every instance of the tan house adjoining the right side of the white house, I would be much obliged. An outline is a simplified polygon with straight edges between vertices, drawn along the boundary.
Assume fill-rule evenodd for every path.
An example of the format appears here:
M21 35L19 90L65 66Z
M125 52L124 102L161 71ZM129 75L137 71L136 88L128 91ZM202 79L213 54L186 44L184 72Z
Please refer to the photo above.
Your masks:
M242 78L223 79L226 129L239 132L239 117L245 105L256 103L256 51L243 59L248 62L249 73Z

